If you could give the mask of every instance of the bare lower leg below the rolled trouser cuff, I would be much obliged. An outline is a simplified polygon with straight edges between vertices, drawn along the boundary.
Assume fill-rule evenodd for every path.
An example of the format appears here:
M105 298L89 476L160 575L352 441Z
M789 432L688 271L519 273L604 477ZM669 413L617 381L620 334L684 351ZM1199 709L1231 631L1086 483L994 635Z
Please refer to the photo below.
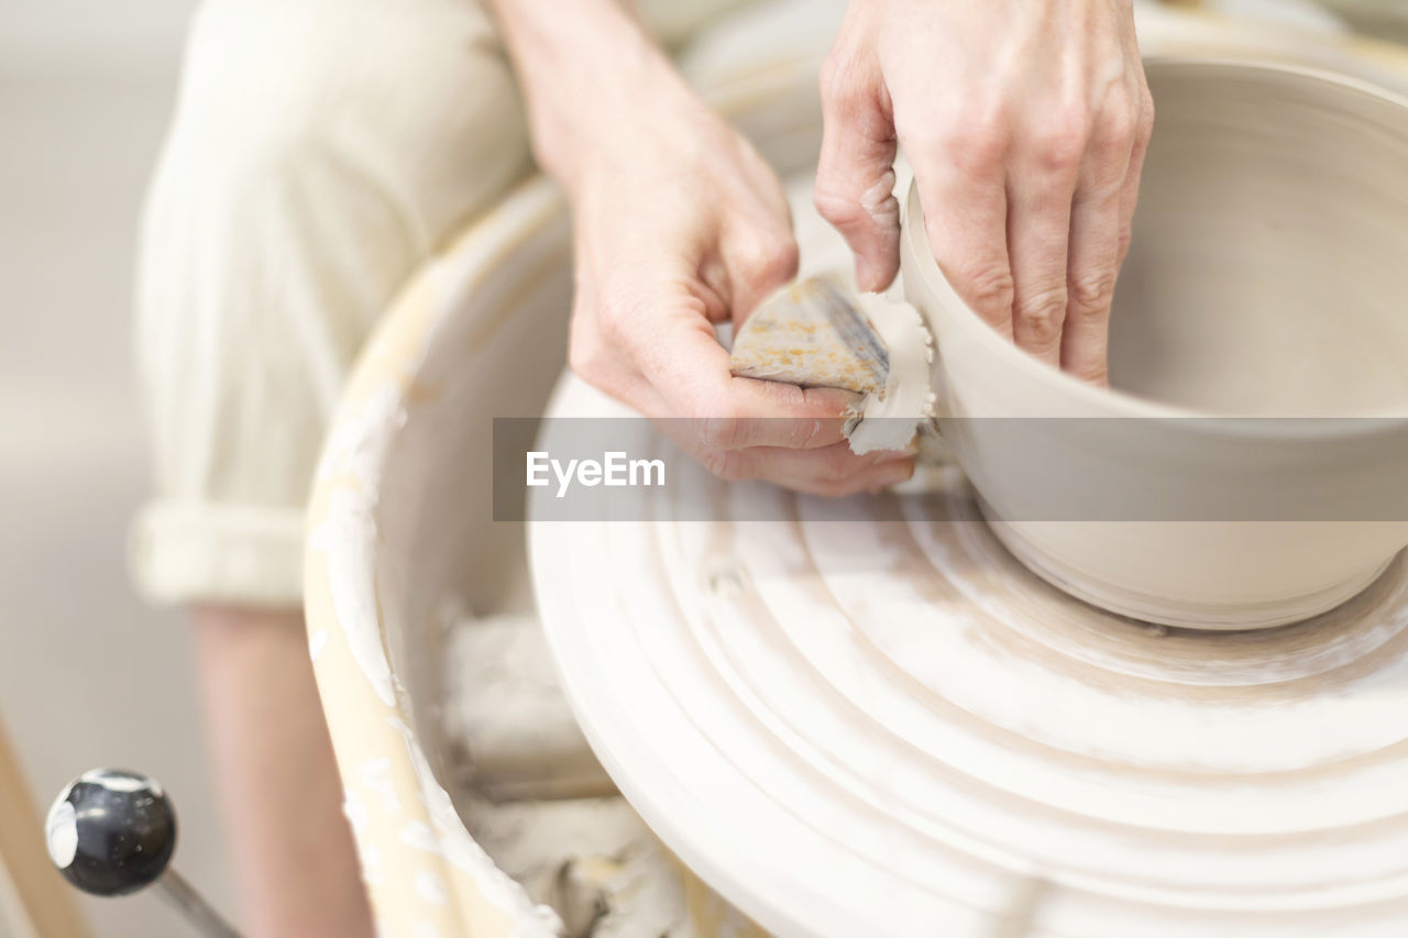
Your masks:
M303 614L197 607L217 789L255 938L372 934Z

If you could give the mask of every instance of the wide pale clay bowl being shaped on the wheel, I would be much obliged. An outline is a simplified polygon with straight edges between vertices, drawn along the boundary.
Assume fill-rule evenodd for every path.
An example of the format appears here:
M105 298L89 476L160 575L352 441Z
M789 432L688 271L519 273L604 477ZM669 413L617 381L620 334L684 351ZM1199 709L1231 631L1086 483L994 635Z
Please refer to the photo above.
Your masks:
M904 227L905 293L948 442L1026 566L1146 621L1298 621L1408 544L1408 100L1294 66L1148 70L1111 389L984 325L924 224Z

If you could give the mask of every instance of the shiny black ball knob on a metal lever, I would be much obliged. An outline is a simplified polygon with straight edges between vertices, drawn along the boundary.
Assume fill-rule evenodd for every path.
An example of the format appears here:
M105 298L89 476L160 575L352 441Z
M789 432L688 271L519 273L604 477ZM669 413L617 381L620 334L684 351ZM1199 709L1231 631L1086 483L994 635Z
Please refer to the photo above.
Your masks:
M155 780L124 769L84 772L48 818L49 858L86 893L122 896L155 882L176 849L176 813Z

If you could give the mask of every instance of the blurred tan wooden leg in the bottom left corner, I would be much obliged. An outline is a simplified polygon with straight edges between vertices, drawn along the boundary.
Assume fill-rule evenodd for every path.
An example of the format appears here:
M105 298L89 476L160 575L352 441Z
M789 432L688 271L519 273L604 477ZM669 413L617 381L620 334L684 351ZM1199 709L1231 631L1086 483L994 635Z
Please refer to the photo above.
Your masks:
M44 839L44 814L0 723L0 931L17 938L89 934Z

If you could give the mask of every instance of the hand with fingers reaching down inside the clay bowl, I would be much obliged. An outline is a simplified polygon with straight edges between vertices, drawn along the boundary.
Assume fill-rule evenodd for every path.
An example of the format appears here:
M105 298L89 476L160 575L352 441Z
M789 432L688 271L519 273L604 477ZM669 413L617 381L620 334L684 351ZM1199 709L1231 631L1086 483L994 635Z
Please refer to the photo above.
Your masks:
M862 287L898 270L898 142L957 294L1032 355L1107 383L1153 127L1131 0L855 0L821 85L817 208Z

